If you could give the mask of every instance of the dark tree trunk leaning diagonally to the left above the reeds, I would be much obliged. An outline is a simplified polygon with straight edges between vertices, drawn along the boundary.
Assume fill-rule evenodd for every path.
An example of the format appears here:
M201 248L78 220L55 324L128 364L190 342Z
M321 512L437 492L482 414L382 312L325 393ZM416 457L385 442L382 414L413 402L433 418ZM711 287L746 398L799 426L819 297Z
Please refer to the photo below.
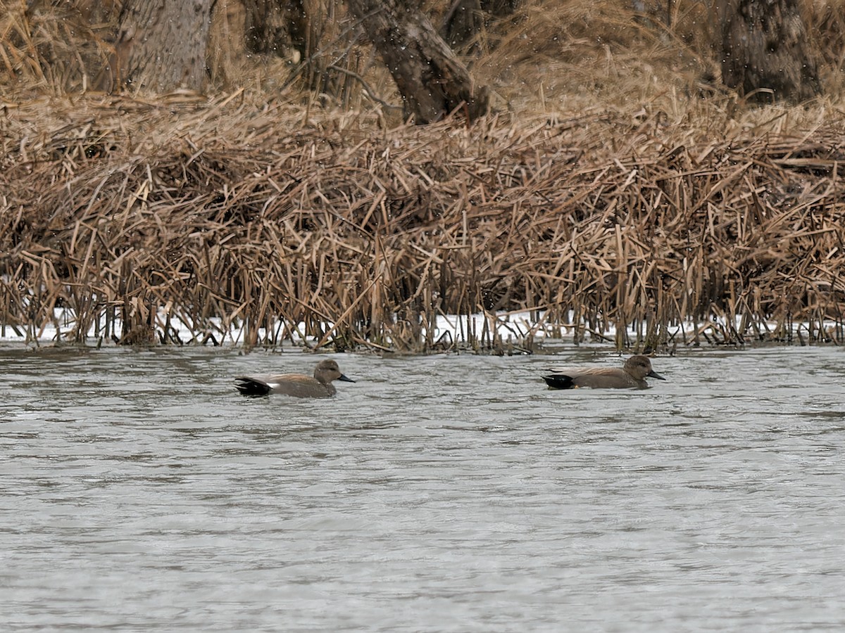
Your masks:
M439 121L463 104L470 119L488 108L488 90L477 89L431 22L407 0L346 0L352 14L390 70L414 122Z

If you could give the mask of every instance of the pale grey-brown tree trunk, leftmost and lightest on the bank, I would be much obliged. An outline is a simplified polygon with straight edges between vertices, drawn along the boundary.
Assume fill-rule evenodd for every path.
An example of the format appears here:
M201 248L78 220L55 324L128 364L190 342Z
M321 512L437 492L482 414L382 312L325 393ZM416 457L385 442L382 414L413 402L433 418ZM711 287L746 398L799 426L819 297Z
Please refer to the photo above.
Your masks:
M108 68L108 89L158 93L205 86L213 0L126 0Z

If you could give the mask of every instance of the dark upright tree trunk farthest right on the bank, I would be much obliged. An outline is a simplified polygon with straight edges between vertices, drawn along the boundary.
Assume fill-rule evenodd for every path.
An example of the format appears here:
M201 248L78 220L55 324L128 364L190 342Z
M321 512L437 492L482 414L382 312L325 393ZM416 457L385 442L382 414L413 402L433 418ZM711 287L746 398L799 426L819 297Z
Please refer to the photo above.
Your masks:
M804 100L820 93L796 0L733 0L724 11L725 85L763 101Z

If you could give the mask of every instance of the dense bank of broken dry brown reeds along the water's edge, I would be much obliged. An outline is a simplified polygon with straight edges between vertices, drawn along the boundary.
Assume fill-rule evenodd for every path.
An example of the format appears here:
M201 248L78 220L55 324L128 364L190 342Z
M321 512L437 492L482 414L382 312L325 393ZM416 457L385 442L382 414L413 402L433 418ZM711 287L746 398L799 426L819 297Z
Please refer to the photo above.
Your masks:
M406 353L841 344L845 116L720 116L385 129L243 93L28 101L0 121L0 323ZM435 338L445 315L462 341Z

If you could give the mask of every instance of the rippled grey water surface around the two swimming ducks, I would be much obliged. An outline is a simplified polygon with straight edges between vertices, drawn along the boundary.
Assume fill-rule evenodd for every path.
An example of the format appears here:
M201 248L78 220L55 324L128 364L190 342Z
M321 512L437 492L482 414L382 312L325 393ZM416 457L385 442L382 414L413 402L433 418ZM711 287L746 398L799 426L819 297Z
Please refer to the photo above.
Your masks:
M845 628L845 350L0 351L3 630Z

